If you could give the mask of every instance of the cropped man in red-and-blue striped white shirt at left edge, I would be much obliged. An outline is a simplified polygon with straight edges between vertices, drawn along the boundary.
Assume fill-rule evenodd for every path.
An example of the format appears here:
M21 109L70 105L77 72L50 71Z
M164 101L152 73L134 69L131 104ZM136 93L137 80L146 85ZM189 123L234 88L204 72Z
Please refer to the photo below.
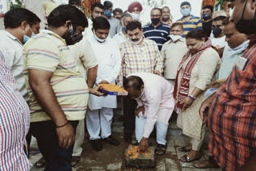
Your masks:
M8 12L6 13L8 14ZM30 170L24 150L30 128L30 109L18 91L13 74L0 51L0 162L1 170Z

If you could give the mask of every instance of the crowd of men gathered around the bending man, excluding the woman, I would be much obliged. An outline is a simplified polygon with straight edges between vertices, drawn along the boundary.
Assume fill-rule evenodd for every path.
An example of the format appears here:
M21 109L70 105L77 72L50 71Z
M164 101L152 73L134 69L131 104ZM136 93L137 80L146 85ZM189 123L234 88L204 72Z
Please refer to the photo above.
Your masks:
M0 30L1 170L30 170L32 136L42 153L35 166L46 171L78 165L85 129L96 151L102 142L119 145L111 133L118 101L124 140L131 143L135 131L136 145L145 151L155 127L155 154L165 155L170 117L178 113L175 89L183 86L177 85L178 73L186 56L194 58L198 43L191 39L199 34L222 61L212 83L197 88L206 99L197 113L210 130L209 160L197 161L186 145L181 150L189 153L180 161L194 161L200 169L256 170L256 2L230 0L230 17L210 5L202 7L201 17L191 14L190 2L179 7L178 21L164 6L150 10L151 22L145 24L140 2L127 9L96 2L90 18L81 12L80 0L46 2L45 30L30 10L8 11ZM116 84L128 96L102 93L102 84ZM193 102L197 93L192 93L186 96Z

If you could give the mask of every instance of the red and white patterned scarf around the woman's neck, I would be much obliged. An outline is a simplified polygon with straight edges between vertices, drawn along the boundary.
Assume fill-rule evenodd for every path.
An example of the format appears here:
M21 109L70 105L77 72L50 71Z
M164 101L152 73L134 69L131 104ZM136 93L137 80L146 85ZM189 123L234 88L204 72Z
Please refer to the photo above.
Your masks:
M191 72L194 68L194 65L198 62L198 59L201 57L202 53L210 47L211 47L211 42L209 39L202 45L200 50L198 50L198 52L193 55L193 57L190 59L190 62L188 62L187 65L185 66L185 70L182 73L182 79L181 79L181 82L179 83L179 89L178 89L178 74L179 74L179 72L181 72L182 66L183 66L184 62L186 62L186 59L190 57L190 51L188 51L182 58L182 62L178 66L178 71L177 71L177 75L176 75L176 79L175 79L175 86L174 86L174 98L176 99L177 95L178 95L178 99L176 99L177 100L177 103L176 103L177 108L179 108L179 109L183 108L184 101L185 101L186 97L188 97L188 95L189 95L190 77L191 77Z

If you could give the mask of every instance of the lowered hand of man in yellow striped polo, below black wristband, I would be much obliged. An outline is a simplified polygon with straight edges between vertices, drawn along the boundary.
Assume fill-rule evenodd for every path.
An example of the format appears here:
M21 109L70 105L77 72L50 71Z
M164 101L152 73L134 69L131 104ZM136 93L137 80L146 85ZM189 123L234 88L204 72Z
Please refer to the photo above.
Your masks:
M75 134L70 123L61 128L56 128L56 133L58 135L58 145L60 147L68 149L74 144Z

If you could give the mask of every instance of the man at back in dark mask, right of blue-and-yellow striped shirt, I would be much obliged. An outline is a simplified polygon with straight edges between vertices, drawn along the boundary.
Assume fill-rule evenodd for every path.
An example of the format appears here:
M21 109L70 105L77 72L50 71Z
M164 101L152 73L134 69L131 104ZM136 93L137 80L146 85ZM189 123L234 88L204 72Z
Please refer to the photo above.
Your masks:
M202 7L202 30L205 31L206 37L210 37L213 13L214 6L206 5Z

